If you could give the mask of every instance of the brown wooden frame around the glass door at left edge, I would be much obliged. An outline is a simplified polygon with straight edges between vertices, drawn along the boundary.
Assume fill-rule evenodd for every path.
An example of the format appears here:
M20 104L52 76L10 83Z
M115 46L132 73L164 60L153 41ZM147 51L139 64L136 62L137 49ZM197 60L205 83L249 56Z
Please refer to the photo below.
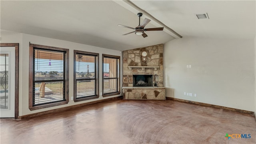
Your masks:
M19 115L19 43L0 43L0 47L15 47L15 108L14 118Z

